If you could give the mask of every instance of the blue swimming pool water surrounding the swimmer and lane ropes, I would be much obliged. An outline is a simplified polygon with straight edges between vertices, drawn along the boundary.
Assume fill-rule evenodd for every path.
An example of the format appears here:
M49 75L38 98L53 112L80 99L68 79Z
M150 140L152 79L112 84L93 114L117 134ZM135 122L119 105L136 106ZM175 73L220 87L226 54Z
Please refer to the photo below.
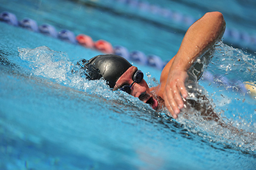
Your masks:
M123 2L3 1L0 12L155 54L163 61L172 58L188 26L138 12ZM184 15L191 13L195 19L206 10L225 7L221 2L157 3ZM227 3L230 9L223 10L227 27L253 36L255 25L248 25L253 21L253 1L247 1L250 8L236 1ZM240 15L244 10L248 13ZM230 17L234 13L244 24ZM252 138L234 136L200 119L172 120L136 98L113 93L103 81L89 82L70 74L77 59L90 59L99 51L4 22L0 29L4 63L0 65L1 169L255 168ZM233 42L235 47L243 42L232 40L236 36L224 42ZM253 47L247 47L253 54ZM159 79L161 70L132 62ZM200 85L209 92L216 110L235 127L255 132L255 99L239 88L241 82L255 82L253 55L220 43L206 71L214 80L205 75Z

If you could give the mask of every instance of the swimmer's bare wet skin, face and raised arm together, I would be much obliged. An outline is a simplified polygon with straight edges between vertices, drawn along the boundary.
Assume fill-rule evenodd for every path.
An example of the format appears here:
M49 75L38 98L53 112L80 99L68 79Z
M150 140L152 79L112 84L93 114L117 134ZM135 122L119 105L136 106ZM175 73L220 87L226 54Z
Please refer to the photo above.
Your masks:
M134 83L131 95L140 98L143 102L157 109L156 98L152 97L151 91L156 93L157 98L163 99L164 106L173 118L178 118L180 109L184 107L182 98L188 96L185 81L188 78L188 70L191 65L207 50L221 40L225 31L225 20L220 12L209 12L189 27L177 54L164 66L161 73L160 84L154 88L148 88L144 80ZM132 84L132 76L138 68L132 66L118 79L114 88L118 89L124 84Z

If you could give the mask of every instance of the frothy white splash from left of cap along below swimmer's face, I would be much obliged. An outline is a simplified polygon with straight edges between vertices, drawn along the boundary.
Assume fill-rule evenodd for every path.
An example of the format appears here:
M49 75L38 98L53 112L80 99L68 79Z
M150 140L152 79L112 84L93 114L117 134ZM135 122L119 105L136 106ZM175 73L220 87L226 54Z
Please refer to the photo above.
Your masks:
M16 64L28 75L44 77L87 94L123 105L132 105L142 111L155 112L149 105L123 91L118 90L113 93L104 79L88 81L83 76L85 71L77 65L78 60L70 61L65 52L56 52L46 46L35 49L19 48L19 57L21 60L16 61Z

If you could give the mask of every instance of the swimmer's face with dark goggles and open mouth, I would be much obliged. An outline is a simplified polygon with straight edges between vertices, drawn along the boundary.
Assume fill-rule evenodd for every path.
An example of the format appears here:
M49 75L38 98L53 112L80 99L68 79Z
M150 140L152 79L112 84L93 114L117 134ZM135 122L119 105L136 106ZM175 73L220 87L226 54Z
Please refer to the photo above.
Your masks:
M130 86L132 82L134 82L133 77L137 70L138 68L136 66L131 66L128 70L126 70L126 72L121 75L118 81L116 81L113 90L122 88L124 85ZM131 93L129 94L133 97L138 97L145 104L150 104L153 109L157 109L158 102L156 98L154 98L150 93L148 84L144 79L141 82L134 82L131 86Z

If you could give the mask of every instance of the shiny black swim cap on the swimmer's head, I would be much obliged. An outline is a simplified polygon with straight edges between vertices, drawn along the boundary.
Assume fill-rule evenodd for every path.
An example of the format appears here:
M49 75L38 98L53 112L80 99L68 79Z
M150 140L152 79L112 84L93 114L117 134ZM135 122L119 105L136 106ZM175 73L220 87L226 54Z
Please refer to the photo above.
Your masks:
M113 88L119 77L132 66L125 58L114 54L95 56L88 63L94 68L99 69L102 77L108 81L110 88Z

